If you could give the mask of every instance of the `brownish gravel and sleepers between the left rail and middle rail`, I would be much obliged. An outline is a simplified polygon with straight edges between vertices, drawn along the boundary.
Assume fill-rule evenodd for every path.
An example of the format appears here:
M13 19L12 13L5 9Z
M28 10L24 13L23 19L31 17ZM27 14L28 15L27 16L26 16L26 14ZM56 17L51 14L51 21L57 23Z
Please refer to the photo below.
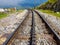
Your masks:
M28 45L31 30L31 20L32 13L30 12L5 45Z

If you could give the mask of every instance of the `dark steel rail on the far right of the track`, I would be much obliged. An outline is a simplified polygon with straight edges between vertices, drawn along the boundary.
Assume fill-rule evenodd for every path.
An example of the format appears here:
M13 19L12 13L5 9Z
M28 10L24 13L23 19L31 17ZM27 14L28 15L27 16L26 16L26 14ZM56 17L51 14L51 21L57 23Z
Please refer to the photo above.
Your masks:
M60 45L60 36L54 31L54 29L50 26L50 24L48 23L48 21L42 15L40 15L40 13L38 11L34 10L34 12L37 15L39 15L39 17L45 22L45 24L50 29L49 31L54 35L54 39L56 40L57 44Z

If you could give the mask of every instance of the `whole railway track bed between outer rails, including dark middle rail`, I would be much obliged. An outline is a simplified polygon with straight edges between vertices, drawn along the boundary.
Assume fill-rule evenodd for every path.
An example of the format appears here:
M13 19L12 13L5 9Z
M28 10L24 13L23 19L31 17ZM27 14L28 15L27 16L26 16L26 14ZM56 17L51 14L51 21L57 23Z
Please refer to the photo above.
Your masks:
M22 22L5 45L60 45L48 24L35 11Z

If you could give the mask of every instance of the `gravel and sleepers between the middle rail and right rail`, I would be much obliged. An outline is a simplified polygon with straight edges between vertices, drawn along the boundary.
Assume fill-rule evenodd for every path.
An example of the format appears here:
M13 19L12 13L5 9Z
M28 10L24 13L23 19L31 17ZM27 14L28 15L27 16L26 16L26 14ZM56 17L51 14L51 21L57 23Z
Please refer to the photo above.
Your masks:
M44 21L35 14L36 45L57 45Z

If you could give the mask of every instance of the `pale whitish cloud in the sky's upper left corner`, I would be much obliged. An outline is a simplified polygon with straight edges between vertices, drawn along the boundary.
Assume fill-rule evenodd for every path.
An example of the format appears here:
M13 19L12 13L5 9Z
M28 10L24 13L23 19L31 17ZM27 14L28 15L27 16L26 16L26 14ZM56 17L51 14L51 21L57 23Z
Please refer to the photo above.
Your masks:
M18 3L22 2L23 0L0 0L0 6L4 5L18 5Z

